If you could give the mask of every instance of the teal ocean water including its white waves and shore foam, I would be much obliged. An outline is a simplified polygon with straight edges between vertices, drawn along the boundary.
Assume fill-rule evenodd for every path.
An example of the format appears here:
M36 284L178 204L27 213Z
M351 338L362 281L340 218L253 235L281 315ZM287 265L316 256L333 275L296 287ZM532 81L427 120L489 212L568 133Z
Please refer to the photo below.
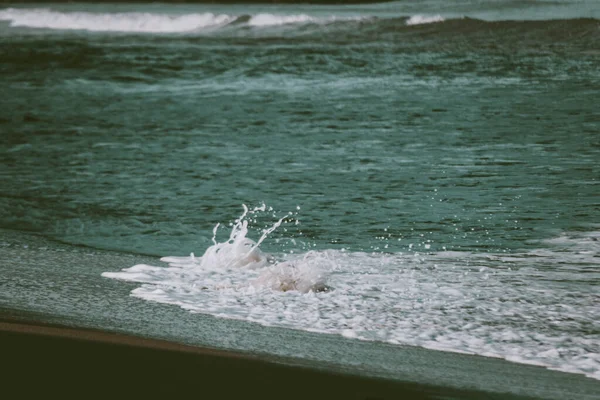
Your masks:
M596 1L3 6L0 93L6 310L600 379Z

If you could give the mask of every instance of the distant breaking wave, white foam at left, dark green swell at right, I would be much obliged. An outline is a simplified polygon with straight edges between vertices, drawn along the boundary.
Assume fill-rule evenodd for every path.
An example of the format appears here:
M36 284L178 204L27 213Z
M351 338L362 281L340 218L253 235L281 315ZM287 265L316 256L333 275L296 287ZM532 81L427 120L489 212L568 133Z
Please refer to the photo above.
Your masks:
M48 29L54 31L89 31L122 34L184 34L210 35L215 37L265 36L328 37L336 43L390 39L404 43L419 43L414 34L425 35L427 46L448 49L457 36L468 36L469 46L491 48L499 43L530 44L538 48L540 43L565 43L570 50L580 48L595 51L600 40L600 21L593 18L531 21L485 21L469 16L452 18L435 14L412 16L376 17L371 15L321 15L309 14L166 14L166 13L93 13L59 12L51 9L7 8L0 10L0 21L10 27ZM3 24L4 25L4 24ZM307 29L309 28L309 29ZM10 28L9 28L10 29ZM211 39L212 40L212 39ZM424 42L423 42L424 43ZM461 45L465 41L460 41Z

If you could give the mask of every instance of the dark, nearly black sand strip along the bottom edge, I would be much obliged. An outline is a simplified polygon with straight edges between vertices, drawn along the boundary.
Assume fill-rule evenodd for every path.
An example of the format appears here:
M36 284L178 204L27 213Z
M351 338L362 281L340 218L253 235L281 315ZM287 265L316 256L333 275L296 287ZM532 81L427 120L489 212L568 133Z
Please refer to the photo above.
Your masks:
M30 395L208 399L506 399L284 365L122 334L0 321L3 391Z

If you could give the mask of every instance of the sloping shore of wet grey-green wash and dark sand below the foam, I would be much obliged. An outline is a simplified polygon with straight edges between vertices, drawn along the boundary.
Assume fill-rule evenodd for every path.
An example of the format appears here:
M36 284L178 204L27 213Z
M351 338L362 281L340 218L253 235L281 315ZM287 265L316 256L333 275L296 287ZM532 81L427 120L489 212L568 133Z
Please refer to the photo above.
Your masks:
M225 393L210 398L549 400L600 393L600 381L583 374L502 358L190 313L101 277L153 257L3 229L0 241L0 322L12 324L0 329L0 354L9 366L4 381L20 392L172 395L208 387Z

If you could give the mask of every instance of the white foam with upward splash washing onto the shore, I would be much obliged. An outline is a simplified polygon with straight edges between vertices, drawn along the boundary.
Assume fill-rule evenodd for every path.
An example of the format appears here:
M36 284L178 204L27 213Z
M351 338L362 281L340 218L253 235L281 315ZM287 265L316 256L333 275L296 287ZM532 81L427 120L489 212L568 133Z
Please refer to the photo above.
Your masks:
M191 312L600 379L597 233L565 234L518 254L267 255L258 245L283 218L258 241L246 237L247 221L264 209L245 209L229 240L213 240L202 257L165 257L168 267L137 265L103 276L142 283L134 296Z

